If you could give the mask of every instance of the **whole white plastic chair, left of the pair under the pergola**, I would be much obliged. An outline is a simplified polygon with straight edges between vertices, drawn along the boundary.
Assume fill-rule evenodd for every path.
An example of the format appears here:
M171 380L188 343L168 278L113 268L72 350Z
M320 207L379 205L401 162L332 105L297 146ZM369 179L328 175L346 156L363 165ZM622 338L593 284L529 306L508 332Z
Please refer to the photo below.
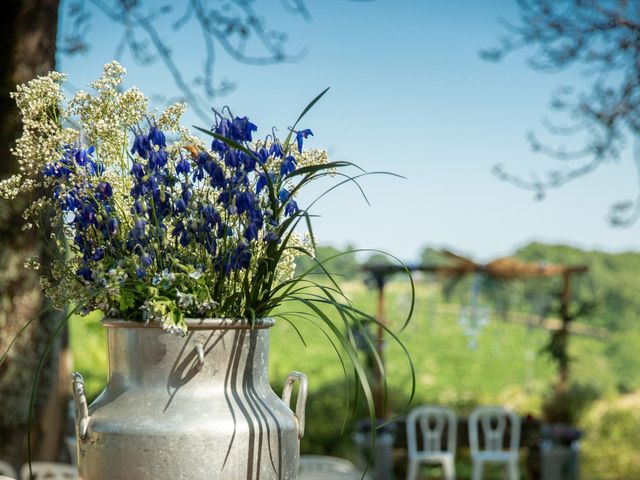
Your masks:
M422 434L422 449L418 446L418 426ZM446 443L443 442L446 429ZM454 480L456 433L458 421L449 408L423 406L411 410L407 416L407 447L409 466L407 480L415 480L421 464L442 465L445 480ZM443 443L445 447L443 448Z

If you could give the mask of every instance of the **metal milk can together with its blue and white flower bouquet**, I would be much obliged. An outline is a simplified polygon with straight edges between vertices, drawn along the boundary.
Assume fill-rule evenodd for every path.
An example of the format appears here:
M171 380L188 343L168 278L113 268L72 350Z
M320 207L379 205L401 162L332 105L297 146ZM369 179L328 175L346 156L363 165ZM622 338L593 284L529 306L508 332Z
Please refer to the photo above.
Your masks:
M247 117L214 110L211 128L196 127L205 143L181 125L185 104L152 110L138 89L123 90L123 75L118 63L107 64L92 93L69 101L59 73L19 86L20 169L0 184L6 199L32 196L27 228L53 239L42 277L53 304L106 317L107 389L87 407L74 377L81 474L294 478L306 378L287 381L287 402L293 383L302 384L293 416L266 379L270 315L328 330L373 412L346 327L375 319L350 304L330 274L312 280L317 267L329 273L322 262L298 275L294 264L300 255L315 259L314 202L299 205L299 193L324 177L337 179L331 190L366 173L347 175L357 167L304 148L313 133L298 122L322 94L284 139L275 130L256 138ZM37 259L28 263L39 268ZM279 308L287 302L299 308ZM369 348L375 356L371 341ZM178 451L186 470L158 461ZM107 471L105 458L118 461Z

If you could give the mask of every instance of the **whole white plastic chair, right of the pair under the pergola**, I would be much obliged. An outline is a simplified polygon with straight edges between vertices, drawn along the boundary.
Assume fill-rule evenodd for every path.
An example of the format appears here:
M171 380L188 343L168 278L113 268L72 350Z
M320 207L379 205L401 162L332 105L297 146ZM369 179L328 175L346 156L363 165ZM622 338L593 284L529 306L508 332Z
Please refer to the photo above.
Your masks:
M510 427L508 448L504 448ZM482 433L482 442L480 441ZM482 480L484 465L503 464L505 478L519 480L520 417L504 407L478 407L469 416L472 480Z

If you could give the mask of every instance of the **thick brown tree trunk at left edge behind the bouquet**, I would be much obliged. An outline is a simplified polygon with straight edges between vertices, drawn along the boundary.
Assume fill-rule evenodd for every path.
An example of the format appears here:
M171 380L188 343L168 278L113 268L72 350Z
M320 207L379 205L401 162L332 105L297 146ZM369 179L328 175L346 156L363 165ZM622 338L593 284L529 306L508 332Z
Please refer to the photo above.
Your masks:
M17 170L10 147L20 134L18 110L9 92L19 83L55 67L59 0L8 0L0 16L0 178ZM38 256L46 269L44 247L33 232L22 232L26 199L0 202L0 355L31 318L38 317L14 343L0 365L0 459L19 467L27 456L27 417L34 373L59 313L45 306L36 272L23 268ZM69 390L66 334L53 344L36 397L32 452L37 460L60 459ZM61 358L65 359L61 361ZM60 368L62 367L62 368Z

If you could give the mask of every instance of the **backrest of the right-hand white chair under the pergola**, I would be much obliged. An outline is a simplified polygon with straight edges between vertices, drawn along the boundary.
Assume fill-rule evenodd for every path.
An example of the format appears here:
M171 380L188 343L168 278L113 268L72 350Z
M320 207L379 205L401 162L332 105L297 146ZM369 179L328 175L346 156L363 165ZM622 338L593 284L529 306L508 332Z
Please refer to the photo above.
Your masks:
M469 445L471 454L504 451L507 426L510 427L509 447L512 453L520 447L520 417L504 407L478 407L469 416ZM480 442L482 431L482 444Z

